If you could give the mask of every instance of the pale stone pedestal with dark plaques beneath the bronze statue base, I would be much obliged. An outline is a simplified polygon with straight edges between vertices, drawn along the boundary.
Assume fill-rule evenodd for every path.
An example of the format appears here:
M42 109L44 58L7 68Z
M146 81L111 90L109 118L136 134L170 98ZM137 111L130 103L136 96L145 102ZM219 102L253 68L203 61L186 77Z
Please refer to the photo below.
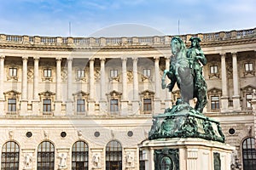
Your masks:
M196 138L146 140L140 144L147 169L223 170L230 169L235 147Z

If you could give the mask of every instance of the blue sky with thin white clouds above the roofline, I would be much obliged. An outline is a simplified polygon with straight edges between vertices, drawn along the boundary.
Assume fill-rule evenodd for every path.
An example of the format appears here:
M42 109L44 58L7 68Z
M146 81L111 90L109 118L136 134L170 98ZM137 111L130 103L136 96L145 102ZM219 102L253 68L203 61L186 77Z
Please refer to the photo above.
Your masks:
M255 0L0 0L0 34L136 37L256 27Z

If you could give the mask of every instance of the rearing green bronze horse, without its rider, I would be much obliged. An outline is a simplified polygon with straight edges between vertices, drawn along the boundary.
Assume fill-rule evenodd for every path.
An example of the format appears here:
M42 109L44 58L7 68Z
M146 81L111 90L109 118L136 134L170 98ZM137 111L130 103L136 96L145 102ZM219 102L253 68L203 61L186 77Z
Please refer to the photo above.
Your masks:
M171 41L172 60L170 69L164 71L162 77L162 88L172 88L175 83L180 89L181 99L184 103L189 104L189 99L196 98L197 102L195 110L202 112L205 105L207 105L207 83L201 76L201 87L195 86L195 73L189 66L189 58L187 57L187 48L179 37L173 37ZM171 80L171 83L166 87L166 76Z

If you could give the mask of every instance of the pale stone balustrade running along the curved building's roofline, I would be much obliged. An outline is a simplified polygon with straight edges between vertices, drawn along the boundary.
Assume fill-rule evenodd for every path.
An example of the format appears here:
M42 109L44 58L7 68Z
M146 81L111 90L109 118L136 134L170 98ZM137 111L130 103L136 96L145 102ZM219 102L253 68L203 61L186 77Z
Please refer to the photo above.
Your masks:
M190 37L200 37L202 42L216 42L231 39L255 37L256 28L239 31L219 31L211 33L178 35L183 41L188 42ZM32 37L0 34L0 43L23 43L50 46L83 45L85 47L96 46L125 46L125 45L159 45L170 44L171 38L176 36L154 37Z

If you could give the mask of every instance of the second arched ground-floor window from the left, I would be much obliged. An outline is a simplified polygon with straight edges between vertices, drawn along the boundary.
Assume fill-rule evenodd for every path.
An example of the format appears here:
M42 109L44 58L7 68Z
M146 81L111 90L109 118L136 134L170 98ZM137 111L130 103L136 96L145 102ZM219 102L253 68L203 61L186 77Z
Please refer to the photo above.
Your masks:
M38 145L38 170L54 170L55 146L49 141Z

